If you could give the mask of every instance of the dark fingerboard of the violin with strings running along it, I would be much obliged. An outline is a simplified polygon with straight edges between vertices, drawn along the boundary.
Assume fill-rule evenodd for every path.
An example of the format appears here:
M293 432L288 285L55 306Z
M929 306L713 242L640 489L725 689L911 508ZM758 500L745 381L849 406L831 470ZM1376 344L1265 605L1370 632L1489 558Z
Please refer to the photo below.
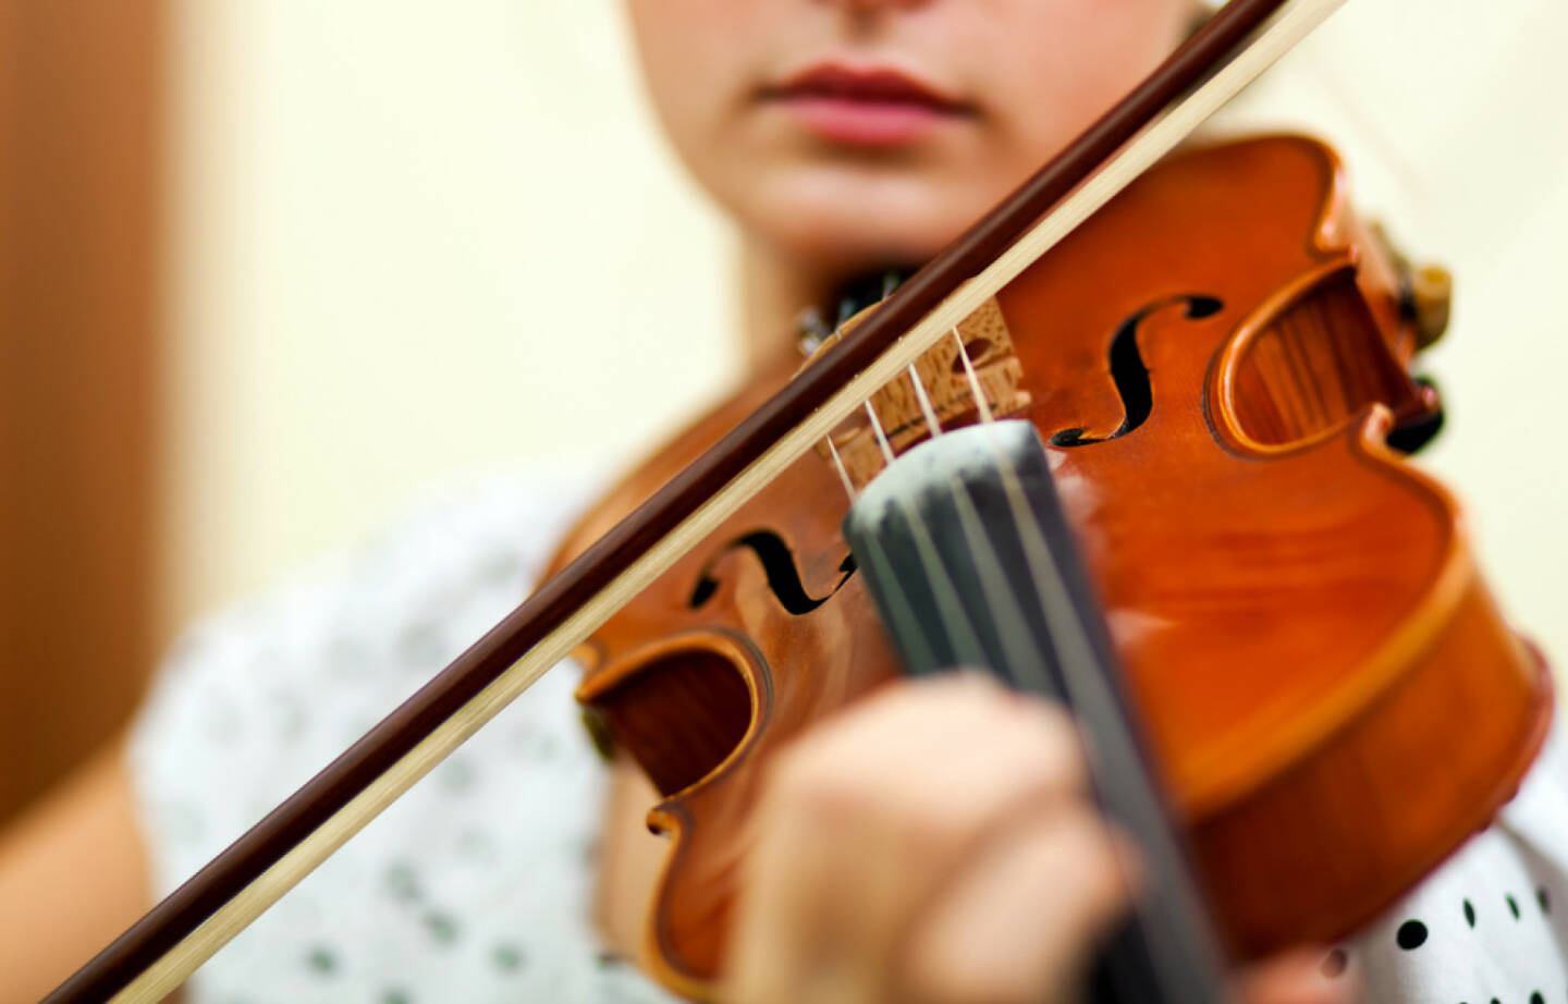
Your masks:
M1096 1004L1228 999L1212 926L1143 755L1104 615L1027 422L971 425L887 466L844 535L913 675L980 668L1071 708L1105 814L1138 842L1138 908L1091 977Z

